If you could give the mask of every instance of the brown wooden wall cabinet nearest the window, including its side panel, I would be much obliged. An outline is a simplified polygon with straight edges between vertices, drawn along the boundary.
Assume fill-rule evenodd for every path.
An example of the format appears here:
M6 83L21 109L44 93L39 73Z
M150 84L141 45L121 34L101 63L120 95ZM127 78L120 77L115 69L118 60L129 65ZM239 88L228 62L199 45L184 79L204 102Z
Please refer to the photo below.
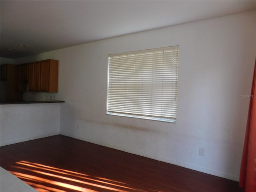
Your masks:
M42 60L28 64L28 90L58 92L58 60Z

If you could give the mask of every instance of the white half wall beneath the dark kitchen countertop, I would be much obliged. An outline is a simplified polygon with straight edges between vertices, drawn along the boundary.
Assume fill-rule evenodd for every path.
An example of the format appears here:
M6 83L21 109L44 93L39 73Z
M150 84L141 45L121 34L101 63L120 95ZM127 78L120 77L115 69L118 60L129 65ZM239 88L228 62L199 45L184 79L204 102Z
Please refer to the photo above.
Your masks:
M60 105L1 105L1 146L60 134Z

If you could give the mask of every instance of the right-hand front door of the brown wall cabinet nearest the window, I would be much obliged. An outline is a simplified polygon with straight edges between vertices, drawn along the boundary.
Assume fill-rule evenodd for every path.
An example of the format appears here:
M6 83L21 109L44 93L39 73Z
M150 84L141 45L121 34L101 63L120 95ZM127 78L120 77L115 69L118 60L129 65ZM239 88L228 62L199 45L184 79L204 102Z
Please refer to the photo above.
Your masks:
M50 69L50 60L43 60L40 62L40 91L48 92L49 91L49 69Z

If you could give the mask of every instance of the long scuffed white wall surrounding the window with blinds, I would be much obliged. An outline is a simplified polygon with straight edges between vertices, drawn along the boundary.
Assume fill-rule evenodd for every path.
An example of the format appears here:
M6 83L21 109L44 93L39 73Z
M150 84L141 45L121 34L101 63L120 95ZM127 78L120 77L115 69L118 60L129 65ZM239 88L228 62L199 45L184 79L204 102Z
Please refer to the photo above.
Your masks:
M59 60L61 134L238 180L256 55L256 11L83 44ZM176 124L106 115L108 54L179 45ZM199 148L205 155L199 155Z

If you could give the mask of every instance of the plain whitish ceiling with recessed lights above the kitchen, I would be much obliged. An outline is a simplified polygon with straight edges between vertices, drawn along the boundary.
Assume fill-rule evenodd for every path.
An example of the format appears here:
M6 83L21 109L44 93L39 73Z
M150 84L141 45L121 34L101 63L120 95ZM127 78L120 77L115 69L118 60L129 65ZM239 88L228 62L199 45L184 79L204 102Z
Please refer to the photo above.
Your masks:
M0 1L1 57L256 10L256 1ZM18 45L26 45L20 47ZM12 48L13 50L7 50Z

